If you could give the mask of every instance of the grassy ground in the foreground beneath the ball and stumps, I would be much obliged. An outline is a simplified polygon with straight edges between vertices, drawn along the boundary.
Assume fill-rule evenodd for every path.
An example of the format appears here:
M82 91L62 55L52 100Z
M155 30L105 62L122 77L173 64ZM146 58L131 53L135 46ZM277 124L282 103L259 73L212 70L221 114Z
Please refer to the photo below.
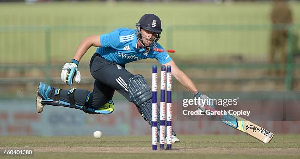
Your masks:
M275 134L264 144L247 135L180 135L171 151L152 151L150 136L27 137L1 136L0 149L33 148L35 158L43 159L299 159L300 135ZM1 155L0 155L1 158ZM23 159L24 157L22 157ZM28 157L29 159L30 157Z

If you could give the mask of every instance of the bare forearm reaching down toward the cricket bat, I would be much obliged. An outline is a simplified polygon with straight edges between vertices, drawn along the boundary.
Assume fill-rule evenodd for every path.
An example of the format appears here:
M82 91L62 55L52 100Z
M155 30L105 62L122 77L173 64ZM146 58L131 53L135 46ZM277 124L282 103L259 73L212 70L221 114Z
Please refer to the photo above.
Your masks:
M186 89L191 91L193 94L196 94L198 92L197 88L195 87L195 84L192 82L192 80L183 72L181 71L175 62L171 60L170 62L164 64L166 66L171 66L172 68L172 75L177 79Z

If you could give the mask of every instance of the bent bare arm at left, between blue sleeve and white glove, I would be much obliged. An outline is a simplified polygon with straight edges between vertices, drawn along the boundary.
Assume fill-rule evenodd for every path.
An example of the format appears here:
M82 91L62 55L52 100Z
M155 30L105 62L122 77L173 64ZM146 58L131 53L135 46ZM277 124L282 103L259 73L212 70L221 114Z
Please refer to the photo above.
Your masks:
M80 61L82 56L86 53L86 51L91 46L102 47L99 35L93 35L93 36L89 36L89 37L84 38L81 41L81 43L79 44L73 59L75 59L77 61Z

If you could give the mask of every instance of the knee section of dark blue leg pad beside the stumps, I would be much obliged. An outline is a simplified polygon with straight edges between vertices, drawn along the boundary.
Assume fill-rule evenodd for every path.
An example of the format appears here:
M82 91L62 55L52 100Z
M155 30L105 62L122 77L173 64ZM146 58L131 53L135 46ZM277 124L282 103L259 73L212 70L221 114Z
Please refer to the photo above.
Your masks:
M152 98L151 88L142 75L134 75L129 79L128 92L132 102L137 106Z

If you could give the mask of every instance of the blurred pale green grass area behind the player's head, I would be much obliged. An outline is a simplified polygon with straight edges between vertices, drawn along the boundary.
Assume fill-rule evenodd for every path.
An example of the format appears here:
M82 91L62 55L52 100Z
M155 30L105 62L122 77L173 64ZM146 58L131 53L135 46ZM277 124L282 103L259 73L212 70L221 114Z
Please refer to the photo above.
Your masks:
M300 3L290 6L299 23ZM84 37L134 28L149 12L162 19L160 43L177 51L174 59L213 61L240 55L266 61L270 10L271 3L1 3L0 63L44 63L48 57L65 62Z

